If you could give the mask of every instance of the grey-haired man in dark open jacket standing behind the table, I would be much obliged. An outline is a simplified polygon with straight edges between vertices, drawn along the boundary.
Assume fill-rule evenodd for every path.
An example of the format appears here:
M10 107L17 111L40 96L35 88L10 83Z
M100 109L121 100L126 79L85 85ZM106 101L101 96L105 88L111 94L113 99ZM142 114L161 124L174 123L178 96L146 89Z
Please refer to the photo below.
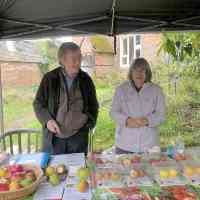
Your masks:
M58 60L61 66L44 75L33 103L43 127L43 151L86 153L88 132L98 115L95 86L80 69L78 45L63 43Z

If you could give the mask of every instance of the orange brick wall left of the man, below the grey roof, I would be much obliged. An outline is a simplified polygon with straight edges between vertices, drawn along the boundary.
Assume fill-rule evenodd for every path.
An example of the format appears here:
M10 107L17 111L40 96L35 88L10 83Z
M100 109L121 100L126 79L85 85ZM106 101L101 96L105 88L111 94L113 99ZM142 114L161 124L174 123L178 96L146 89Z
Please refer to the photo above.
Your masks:
M31 86L39 84L41 74L35 63L1 63L4 86Z

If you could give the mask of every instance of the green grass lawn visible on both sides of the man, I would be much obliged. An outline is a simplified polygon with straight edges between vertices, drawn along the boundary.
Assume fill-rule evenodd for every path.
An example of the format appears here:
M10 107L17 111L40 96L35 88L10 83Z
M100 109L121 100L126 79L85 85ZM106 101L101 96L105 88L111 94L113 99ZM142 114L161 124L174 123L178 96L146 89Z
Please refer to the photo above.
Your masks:
M4 89L4 121L5 130L17 128L41 128L36 119L32 102L37 88L5 88ZM104 107L100 109L95 135L95 149L102 150L113 145L114 123L109 116L110 101L114 88L97 88L99 102L103 102ZM105 100L105 102L104 102ZM33 138L32 143L35 138ZM17 142L17 138L14 138ZM22 145L26 145L27 138L22 140ZM7 141L9 143L9 141Z

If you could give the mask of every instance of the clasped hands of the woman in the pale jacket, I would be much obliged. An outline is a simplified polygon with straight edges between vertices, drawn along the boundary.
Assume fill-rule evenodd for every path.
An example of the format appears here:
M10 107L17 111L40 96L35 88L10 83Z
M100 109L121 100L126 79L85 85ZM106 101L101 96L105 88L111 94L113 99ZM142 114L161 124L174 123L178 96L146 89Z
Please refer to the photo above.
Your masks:
M141 118L128 117L128 119L126 120L126 126L128 128L141 128L147 125L148 125L148 119L145 117Z

